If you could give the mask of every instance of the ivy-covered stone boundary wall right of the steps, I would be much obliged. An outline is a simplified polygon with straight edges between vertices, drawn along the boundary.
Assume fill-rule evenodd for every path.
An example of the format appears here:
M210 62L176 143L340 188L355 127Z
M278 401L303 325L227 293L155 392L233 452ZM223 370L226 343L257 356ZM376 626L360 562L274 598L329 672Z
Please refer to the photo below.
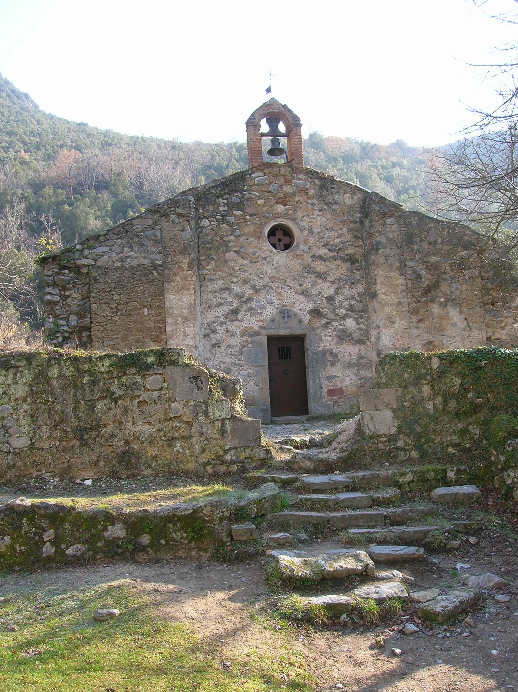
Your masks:
M391 464L465 464L518 499L518 349L391 353L376 376L360 396L364 451Z

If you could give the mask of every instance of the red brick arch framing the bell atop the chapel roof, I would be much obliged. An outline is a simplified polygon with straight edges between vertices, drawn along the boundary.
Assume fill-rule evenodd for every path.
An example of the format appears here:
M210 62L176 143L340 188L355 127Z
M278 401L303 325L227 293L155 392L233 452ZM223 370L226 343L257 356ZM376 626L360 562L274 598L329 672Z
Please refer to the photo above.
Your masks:
M286 104L280 103L276 98L258 107L247 120L247 145L248 165L251 169L262 165L262 136L260 134L262 118L280 118L286 128L288 141L288 161L292 161L296 168L304 165L302 146L302 123L292 109Z

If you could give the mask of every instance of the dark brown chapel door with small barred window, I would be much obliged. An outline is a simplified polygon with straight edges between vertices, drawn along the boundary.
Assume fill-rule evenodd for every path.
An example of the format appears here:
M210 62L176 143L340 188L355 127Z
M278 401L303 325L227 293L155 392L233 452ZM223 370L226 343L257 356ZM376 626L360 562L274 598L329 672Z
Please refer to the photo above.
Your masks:
M270 415L307 416L306 361L303 336L268 337Z

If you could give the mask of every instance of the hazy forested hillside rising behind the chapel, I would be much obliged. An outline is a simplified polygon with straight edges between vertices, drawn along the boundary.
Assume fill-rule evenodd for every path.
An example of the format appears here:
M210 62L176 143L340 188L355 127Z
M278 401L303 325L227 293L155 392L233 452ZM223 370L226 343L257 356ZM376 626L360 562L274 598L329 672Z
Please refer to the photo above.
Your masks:
M416 207L427 166L420 149L317 132L304 147L306 165ZM71 122L0 75L0 313L34 314L38 252L246 167L244 142L181 143Z

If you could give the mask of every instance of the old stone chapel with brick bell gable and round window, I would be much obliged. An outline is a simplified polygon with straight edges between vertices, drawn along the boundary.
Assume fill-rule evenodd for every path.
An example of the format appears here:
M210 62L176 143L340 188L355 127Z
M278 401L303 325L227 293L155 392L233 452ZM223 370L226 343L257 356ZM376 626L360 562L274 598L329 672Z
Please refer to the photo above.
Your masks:
M51 343L185 347L265 422L354 415L388 351L518 345L518 277L486 237L305 167L274 98L247 143L247 170L44 258Z

